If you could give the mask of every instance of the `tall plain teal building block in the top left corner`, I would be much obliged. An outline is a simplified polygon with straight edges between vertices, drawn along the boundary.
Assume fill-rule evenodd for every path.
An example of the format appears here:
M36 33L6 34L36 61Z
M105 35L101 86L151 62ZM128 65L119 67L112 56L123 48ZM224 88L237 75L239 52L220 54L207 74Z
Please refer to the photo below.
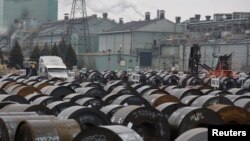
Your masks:
M7 32L11 25L25 19L55 21L57 14L57 0L0 0L0 31Z

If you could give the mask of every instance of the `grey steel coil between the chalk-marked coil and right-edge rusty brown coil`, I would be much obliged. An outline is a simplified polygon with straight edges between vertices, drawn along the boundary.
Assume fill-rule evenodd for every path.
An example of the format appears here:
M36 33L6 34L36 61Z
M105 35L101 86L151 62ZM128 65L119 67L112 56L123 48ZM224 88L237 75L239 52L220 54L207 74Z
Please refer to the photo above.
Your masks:
M213 104L225 104L225 105L234 105L231 100L224 96L212 96L212 95L203 95L196 98L191 106L192 107L208 107Z

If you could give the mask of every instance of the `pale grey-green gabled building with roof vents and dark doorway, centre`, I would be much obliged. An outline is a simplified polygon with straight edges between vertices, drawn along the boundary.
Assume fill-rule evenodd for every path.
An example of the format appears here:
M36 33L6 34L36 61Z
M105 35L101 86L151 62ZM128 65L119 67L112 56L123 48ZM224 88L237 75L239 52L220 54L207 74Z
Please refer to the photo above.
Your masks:
M139 56L141 67L152 67L161 42L184 32L184 26L165 19L163 10L156 19L146 12L145 20L123 23L120 19L119 24L99 35L99 52Z

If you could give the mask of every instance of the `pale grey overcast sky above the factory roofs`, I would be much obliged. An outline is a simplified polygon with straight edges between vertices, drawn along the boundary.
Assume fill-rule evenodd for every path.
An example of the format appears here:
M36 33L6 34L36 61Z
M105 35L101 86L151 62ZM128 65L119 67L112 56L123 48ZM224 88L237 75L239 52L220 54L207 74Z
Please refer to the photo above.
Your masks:
M70 13L73 0L59 1L59 19L64 13ZM156 17L157 9L166 11L166 18L172 21L176 16L181 16L182 21L201 14L250 12L250 0L86 0L88 15L103 12L109 13L109 18L116 21L122 17L125 22L144 19L144 13L151 12L151 17Z

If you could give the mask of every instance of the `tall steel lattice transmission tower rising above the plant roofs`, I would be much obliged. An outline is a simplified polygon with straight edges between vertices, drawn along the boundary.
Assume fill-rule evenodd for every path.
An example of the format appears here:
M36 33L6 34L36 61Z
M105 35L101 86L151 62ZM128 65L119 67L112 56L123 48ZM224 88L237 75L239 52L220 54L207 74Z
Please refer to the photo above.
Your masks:
M80 17L77 18L76 16ZM91 39L85 0L73 0L68 26L67 43L71 44L72 33L76 32L82 37L82 39L78 39L78 42L83 41L82 47L86 52L89 52L91 50Z

